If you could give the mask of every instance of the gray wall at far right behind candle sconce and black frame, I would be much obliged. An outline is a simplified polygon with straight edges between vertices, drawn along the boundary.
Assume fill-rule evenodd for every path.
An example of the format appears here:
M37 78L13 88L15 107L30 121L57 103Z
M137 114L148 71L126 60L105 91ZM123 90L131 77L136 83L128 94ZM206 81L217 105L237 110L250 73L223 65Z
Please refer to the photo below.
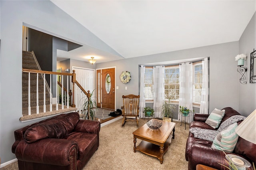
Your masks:
M245 116L250 115L256 109L256 83L250 83L250 53L256 49L256 14L250 20L239 40L239 54L244 53L247 59L244 66L246 72L246 84L239 83L239 112Z

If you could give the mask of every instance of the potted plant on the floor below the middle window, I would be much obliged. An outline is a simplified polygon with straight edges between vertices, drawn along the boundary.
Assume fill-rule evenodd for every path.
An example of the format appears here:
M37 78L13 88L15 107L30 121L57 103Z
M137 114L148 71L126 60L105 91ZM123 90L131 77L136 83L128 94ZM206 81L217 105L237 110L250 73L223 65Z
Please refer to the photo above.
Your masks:
M168 101L164 101L161 105L163 120L168 121L170 119L172 122L174 109L175 105L171 104L170 97L168 97Z

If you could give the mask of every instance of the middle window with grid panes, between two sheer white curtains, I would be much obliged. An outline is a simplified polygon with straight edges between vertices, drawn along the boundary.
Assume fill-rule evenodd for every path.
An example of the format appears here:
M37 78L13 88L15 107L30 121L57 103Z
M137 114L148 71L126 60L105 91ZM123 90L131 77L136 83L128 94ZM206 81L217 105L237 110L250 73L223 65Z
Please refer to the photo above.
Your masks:
M179 101L180 94L179 66L170 66L164 69L164 95L165 99Z

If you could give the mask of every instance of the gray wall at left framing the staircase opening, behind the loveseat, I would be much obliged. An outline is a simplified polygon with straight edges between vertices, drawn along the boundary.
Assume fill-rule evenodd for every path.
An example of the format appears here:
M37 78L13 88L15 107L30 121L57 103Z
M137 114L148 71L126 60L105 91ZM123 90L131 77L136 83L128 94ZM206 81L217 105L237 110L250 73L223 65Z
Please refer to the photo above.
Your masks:
M0 156L4 163L16 158L11 152L14 130L36 122L19 121L22 116L22 25L119 54L49 0L1 0L0 5Z

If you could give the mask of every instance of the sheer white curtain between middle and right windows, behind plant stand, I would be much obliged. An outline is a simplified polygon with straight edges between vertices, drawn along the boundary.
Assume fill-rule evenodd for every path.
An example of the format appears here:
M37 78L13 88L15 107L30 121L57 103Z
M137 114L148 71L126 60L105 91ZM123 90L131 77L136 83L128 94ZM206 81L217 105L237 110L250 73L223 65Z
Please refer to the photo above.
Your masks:
M180 65L180 99L179 107L184 106L193 111L193 65L192 63L182 63ZM181 120L178 114L178 119ZM184 118L183 118L184 119ZM188 119L186 118L186 121ZM189 122L193 121L193 113L189 113Z

